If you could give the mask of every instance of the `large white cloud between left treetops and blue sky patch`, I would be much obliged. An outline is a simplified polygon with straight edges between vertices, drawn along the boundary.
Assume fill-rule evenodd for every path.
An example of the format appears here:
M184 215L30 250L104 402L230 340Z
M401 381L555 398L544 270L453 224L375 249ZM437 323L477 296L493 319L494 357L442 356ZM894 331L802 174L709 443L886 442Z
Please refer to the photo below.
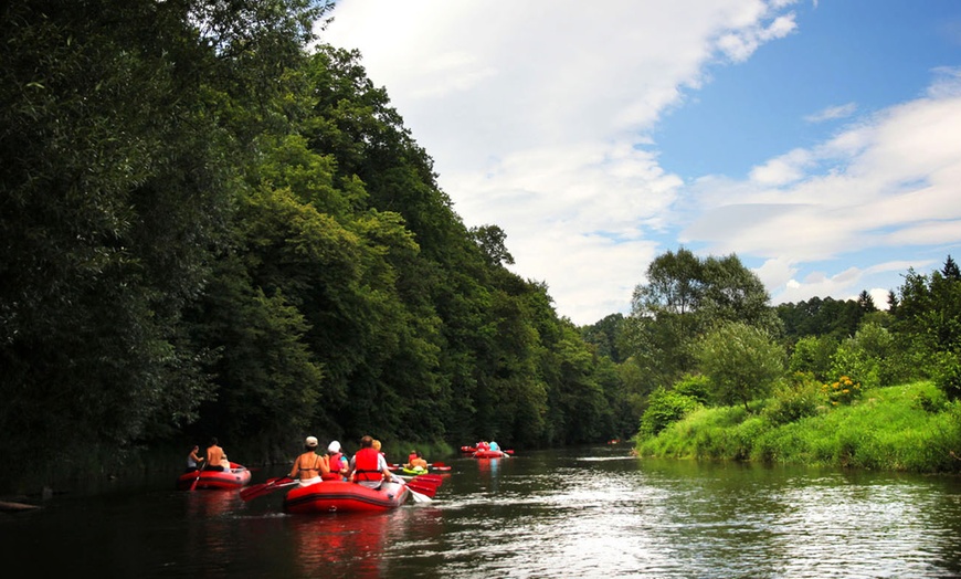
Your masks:
M790 3L345 0L323 40L360 49L465 223L501 227L515 271L588 324L624 309L673 227L683 181L650 130L719 56L795 30Z

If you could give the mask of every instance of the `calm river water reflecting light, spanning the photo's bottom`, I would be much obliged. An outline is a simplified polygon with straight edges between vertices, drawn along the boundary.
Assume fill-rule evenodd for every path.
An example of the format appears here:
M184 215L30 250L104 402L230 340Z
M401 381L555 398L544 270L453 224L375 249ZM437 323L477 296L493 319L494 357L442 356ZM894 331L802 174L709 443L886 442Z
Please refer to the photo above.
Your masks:
M430 504L285 515L169 477L0 514L7 577L959 577L961 480L638 460L453 459ZM254 483L277 472L257 471Z

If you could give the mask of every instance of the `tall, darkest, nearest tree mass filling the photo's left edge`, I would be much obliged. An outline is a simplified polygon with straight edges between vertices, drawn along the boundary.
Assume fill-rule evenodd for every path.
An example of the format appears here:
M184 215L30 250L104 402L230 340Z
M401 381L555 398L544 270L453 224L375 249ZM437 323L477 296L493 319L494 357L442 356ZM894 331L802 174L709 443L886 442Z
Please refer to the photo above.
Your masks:
M2 4L0 428L33 433L4 451L123 453L214 396L181 315L224 243L239 134L283 90L253 77L296 65L318 15L306 0Z

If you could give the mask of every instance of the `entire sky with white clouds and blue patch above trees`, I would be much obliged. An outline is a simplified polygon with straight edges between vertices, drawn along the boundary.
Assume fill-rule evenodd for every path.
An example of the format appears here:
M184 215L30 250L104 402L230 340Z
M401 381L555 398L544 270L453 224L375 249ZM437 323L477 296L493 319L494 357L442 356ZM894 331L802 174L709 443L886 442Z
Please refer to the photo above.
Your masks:
M651 262L737 254L771 304L887 307L961 260L959 0L339 0L468 228L578 325Z

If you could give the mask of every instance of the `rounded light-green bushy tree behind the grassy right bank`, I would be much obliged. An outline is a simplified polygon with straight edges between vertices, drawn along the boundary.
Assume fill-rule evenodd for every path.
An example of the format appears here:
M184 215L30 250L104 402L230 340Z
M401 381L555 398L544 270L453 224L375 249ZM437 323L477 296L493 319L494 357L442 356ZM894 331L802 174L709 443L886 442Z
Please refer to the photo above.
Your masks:
M697 359L716 398L722 403L748 402L770 392L784 373L784 350L761 328L728 322L698 343Z

